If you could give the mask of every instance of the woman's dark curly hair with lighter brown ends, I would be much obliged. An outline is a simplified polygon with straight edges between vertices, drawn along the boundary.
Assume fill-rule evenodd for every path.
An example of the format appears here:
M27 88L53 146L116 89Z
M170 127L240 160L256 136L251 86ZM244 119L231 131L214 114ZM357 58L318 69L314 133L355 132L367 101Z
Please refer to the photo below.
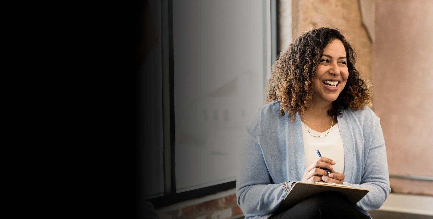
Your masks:
M332 103L328 115L343 116L341 109L350 107L353 110L364 109L370 102L367 84L359 78L355 69L356 54L346 38L337 29L318 28L297 37L284 53L281 53L272 66L271 78L266 87L265 103L280 100L280 116L291 115L291 122L296 119L296 113L303 115L314 100L313 78L323 48L339 39L346 50L349 78L343 91Z

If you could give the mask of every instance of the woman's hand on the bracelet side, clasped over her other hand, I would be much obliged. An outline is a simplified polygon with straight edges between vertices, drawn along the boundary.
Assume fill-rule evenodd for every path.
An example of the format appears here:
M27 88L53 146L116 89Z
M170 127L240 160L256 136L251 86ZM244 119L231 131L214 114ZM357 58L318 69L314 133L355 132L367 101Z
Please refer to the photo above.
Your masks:
M320 157L319 159L317 159L316 161L314 161L313 164L311 164L310 166L308 166L305 169L304 172L304 176L302 177L301 182L305 182L305 183L314 183L314 181L316 182L328 182L325 181L326 180L339 180L341 178L341 175L339 175L340 173L336 173L334 172L334 167L332 166L332 164L335 164L335 161L329 159L329 158L325 158L325 157ZM328 169L330 170L331 174L333 177L328 177L328 172L326 172L326 170L324 169ZM326 178L324 178L326 177ZM344 180L344 175L343 175L343 179ZM334 181L333 181L334 182ZM337 182L335 182L337 183ZM339 184L342 184L343 181Z

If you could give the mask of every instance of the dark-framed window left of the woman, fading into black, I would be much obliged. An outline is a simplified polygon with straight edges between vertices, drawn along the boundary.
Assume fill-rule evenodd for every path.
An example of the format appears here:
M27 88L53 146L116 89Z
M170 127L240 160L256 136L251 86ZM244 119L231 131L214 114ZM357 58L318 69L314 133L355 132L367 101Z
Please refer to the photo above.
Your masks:
M239 138L264 103L277 54L276 0L159 2L149 0L160 40L143 64L140 99L143 195L155 207L236 186Z

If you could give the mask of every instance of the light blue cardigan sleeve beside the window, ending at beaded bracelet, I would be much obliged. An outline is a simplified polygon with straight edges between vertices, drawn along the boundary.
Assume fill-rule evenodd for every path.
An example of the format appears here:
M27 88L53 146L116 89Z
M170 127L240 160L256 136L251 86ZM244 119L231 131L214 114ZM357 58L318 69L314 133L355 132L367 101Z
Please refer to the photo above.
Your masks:
M246 217L275 212L287 196L282 183L273 184L259 142L260 114L246 126L239 151L236 196Z

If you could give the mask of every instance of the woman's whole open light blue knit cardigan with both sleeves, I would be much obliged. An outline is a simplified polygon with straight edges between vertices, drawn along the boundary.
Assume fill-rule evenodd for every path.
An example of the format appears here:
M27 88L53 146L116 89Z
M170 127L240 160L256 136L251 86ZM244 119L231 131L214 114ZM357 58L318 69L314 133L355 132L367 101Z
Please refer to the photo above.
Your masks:
M236 196L246 219L271 216L286 196L284 180L301 181L305 171L301 119L297 115L290 122L287 111L281 117L279 109L279 101L265 104L242 135ZM367 211L382 206L391 192L380 119L368 107L341 113L343 117L337 118L344 145L344 184L370 190L356 204L369 216Z

